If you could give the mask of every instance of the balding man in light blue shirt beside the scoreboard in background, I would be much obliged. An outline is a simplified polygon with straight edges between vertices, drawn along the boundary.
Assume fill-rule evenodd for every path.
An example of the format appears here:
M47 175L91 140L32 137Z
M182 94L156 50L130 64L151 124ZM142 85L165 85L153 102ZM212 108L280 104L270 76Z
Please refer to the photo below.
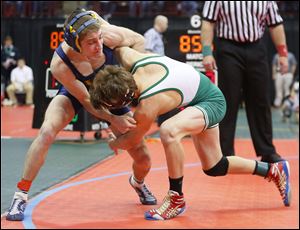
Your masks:
M145 50L151 53L165 55L163 33L168 29L168 18L158 15L154 19L153 27L147 30L145 37Z

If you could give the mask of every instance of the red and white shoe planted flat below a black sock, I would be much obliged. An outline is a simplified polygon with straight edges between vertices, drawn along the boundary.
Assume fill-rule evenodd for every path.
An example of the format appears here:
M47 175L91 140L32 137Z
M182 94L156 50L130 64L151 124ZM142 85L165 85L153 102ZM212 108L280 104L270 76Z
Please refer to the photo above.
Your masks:
M151 209L145 212L146 220L169 220L183 213L185 210L185 201L183 195L169 190L164 198L163 204L158 209Z

